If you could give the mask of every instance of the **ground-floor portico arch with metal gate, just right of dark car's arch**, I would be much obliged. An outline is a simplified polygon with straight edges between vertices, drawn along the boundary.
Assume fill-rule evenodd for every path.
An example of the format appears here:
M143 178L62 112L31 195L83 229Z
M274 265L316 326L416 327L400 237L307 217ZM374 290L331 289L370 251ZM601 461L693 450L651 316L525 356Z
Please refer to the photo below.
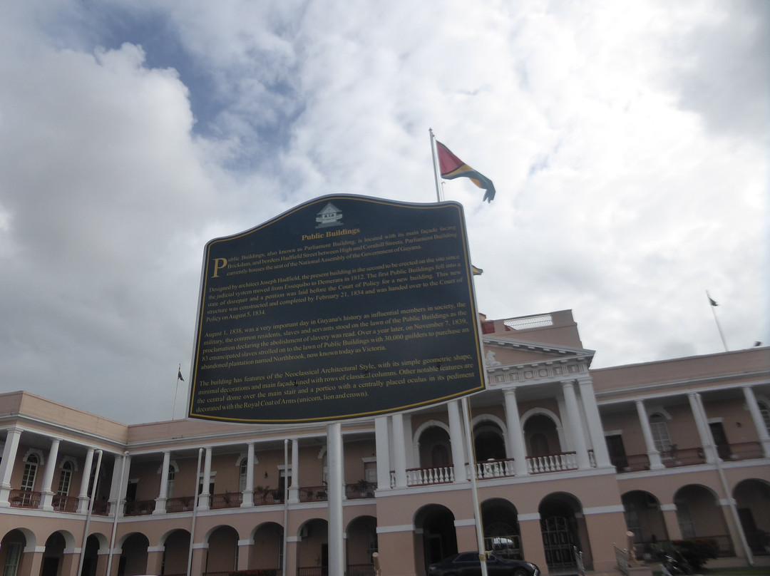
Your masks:
M548 570L576 569L574 548L583 552L585 567L591 568L591 545L580 501L564 492L551 494L541 501L537 511Z

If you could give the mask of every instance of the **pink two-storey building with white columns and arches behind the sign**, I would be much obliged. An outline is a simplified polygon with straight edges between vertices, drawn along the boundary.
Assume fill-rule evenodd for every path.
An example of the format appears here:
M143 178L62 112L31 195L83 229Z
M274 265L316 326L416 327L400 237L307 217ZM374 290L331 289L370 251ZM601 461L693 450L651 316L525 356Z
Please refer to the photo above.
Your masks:
M628 531L640 556L691 537L765 554L770 349L591 370L568 310L481 324L475 457L457 400L343 423L347 574L475 550L470 474L487 548L545 574L574 573L574 548L614 570ZM326 426L127 426L14 392L0 445L3 576L326 574Z

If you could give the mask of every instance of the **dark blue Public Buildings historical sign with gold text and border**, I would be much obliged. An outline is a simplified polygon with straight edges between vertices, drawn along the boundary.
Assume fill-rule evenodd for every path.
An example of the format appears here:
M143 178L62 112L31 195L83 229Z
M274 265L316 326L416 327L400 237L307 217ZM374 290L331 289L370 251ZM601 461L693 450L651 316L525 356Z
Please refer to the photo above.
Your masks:
M481 390L462 206L324 196L206 245L189 416L289 423Z

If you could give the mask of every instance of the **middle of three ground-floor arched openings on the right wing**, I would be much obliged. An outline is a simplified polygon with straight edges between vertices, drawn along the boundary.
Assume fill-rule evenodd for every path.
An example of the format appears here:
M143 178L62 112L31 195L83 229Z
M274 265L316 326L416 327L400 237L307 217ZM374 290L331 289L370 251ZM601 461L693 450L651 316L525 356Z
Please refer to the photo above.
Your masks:
M716 494L705 486L688 484L676 492L674 504L681 537L711 538L717 542L720 556L735 554Z

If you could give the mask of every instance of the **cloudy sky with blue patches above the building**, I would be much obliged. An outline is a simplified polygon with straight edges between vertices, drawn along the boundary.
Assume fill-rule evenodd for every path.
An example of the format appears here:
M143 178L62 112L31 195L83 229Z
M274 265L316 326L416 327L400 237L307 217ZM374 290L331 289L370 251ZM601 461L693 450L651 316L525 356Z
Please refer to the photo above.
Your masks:
M184 417L206 242L434 202L429 129L497 189L443 186L487 317L573 310L593 367L722 352L715 313L766 346L768 59L763 0L7 3L0 392Z

